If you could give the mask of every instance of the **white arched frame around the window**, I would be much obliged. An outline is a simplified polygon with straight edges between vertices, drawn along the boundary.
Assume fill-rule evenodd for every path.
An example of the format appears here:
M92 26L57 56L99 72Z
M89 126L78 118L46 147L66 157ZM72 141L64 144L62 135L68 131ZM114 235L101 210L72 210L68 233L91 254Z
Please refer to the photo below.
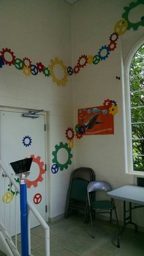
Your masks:
M124 63L124 155L126 173L144 177L144 172L133 169L132 158L132 128L131 128L131 99L130 99L130 84L129 84L129 70L131 67L132 58L137 50L144 43L144 38L141 38L131 49L128 57Z

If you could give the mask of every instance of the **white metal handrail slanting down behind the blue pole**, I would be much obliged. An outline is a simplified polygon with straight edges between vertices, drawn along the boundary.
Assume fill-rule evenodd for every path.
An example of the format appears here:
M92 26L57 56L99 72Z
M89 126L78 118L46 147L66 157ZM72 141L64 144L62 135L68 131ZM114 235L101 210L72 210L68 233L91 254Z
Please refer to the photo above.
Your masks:
M15 186L16 191L20 192L20 186L18 185L18 183L16 183L16 181L12 177L12 175L7 171L7 167L5 166L4 163L2 163L1 159L0 159L0 167L1 167L2 171L4 172L4 174L7 175L9 180L12 182L13 186ZM49 256L50 255L50 252L49 252L49 226L45 222L45 220L41 217L40 213L38 213L37 209L34 207L34 205L31 203L31 201L29 199L27 199L27 206L32 211L35 218L38 219L38 221L40 222L43 229L45 229L45 251L46 251L46 256ZM29 216L29 214L28 214L28 216Z

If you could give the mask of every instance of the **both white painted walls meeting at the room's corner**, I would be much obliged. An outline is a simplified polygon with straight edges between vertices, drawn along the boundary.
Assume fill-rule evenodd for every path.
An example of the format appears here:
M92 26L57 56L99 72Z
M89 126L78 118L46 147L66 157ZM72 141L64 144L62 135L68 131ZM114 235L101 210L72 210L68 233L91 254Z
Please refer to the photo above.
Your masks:
M41 61L48 65L50 59L59 57L67 66L73 63L74 67L81 54L94 55L109 43L123 7L130 3L131 0L79 0L71 6L62 0L0 1L0 48L10 48L16 57L29 57L34 63ZM57 86L51 77L42 74L26 78L15 67L0 68L0 106L48 111L49 218L63 214L70 172L74 168L73 158L68 170L52 174L52 151L60 141L67 142L65 130L77 124L78 108L102 105L107 98L118 104L114 135L76 140L76 167L92 167L96 179L109 181L113 188L135 183L124 166L122 68L131 47L142 36L143 27L126 31L118 38L117 49L108 59L96 66L87 65L79 74L69 77L65 87ZM121 76L121 80L115 76ZM117 205L121 219L122 203ZM144 225L140 213L143 214L143 209L134 218Z

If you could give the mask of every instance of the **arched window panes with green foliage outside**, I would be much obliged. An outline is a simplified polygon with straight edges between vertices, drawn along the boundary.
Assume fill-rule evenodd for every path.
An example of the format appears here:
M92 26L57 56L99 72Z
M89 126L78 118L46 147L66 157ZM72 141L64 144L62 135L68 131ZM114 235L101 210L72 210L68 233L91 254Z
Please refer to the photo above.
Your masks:
M144 43L136 49L129 65L128 161L131 171L144 174ZM129 128L129 129L128 129ZM128 131L129 130L129 131Z

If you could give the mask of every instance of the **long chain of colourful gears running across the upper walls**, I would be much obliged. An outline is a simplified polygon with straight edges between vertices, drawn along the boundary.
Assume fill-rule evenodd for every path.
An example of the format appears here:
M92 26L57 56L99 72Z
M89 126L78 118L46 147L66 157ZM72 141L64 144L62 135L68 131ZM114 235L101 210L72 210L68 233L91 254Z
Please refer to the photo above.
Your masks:
M63 64L62 60L59 60L57 57L52 60L51 65L45 67L41 62L37 62L36 65L32 64L32 61L28 57L24 57L23 59L16 58L13 51L8 48L2 48L0 51L0 68L5 65L12 66L14 65L18 70L23 71L24 76L37 75L38 72L43 73L45 77L51 76L52 81L56 82L58 86L65 86L68 81L68 75L73 75L79 73L81 68L84 68L87 64L97 65L101 60L106 60L110 53L112 53L117 48L118 37L123 35L127 30L134 29L136 31L139 26L144 26L143 17L137 23L132 23L129 20L129 13L138 5L143 4L143 0L137 0L137 2L131 2L128 7L124 7L124 13L122 14L122 19L119 20L114 26L114 32L109 37L109 44L103 45L99 49L98 53L93 55L83 54L77 60L77 64L74 65L74 68L70 66L66 66ZM7 59L7 54L9 54L9 59ZM56 77L54 73L55 65L60 65L63 70L63 78L59 79Z

